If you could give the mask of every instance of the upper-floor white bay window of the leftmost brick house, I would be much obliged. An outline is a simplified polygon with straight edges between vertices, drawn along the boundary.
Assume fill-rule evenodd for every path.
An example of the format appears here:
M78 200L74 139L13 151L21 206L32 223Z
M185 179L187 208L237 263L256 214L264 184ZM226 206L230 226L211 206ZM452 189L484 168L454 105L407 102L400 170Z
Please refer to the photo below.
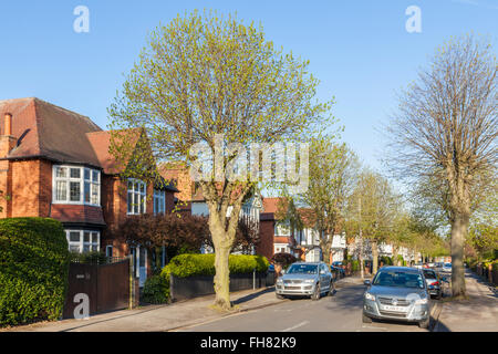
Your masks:
M101 171L77 166L53 166L55 204L101 205Z

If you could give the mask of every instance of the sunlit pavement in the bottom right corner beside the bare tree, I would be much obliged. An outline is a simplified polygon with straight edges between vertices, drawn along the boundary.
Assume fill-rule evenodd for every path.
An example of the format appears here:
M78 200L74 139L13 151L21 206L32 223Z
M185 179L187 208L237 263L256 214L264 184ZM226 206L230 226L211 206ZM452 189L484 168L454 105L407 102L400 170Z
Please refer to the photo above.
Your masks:
M498 291L466 269L469 300L443 302L434 332L497 332Z

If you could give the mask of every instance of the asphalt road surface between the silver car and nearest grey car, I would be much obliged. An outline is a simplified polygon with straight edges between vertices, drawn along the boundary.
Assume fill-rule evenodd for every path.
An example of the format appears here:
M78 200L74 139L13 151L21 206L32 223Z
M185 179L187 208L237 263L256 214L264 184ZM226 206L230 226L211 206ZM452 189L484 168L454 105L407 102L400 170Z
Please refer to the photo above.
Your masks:
M364 285L347 284L319 301L293 299L181 331L194 332L427 332L416 323L362 323ZM432 300L434 306L437 300Z

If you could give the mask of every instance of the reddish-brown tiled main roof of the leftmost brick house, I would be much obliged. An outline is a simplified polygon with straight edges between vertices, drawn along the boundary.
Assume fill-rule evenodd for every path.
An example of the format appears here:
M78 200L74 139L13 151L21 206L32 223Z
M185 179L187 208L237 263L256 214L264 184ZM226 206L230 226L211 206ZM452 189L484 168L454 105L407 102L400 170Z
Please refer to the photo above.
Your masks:
M39 98L0 101L0 134L4 134L4 114L12 114L12 135L17 146L8 159L43 157L61 163L100 167L86 133L102 131L89 117Z

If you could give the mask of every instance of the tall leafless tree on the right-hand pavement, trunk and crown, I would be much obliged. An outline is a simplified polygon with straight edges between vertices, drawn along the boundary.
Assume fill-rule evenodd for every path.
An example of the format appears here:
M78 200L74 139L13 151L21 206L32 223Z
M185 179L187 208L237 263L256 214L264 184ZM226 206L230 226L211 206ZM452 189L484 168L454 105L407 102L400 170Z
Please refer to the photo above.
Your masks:
M497 62L473 35L439 49L400 95L387 131L388 165L409 183L430 180L445 195L452 227L452 292L466 296L464 241L483 188L496 176Z

